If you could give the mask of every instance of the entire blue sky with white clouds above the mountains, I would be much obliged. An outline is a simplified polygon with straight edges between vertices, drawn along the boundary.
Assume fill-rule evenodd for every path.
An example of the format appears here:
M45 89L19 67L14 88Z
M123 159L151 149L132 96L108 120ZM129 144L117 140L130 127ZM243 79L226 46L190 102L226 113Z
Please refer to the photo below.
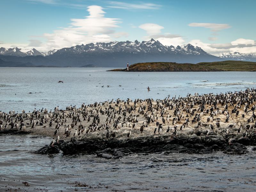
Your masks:
M111 41L256 52L254 0L2 0L0 47L40 52Z

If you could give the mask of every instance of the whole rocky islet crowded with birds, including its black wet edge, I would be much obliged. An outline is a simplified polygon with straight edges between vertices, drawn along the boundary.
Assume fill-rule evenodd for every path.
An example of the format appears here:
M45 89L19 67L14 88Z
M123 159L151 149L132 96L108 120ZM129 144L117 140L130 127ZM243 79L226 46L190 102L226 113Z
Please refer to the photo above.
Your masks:
M226 99L224 99L225 97ZM248 102L252 102L246 112L244 112L246 102L242 102L239 106L239 102L234 100L234 98L239 100L239 97L240 103L246 98L247 100L250 98ZM218 103L216 98L219 98ZM221 98L226 102L221 101ZM229 100L230 98L233 100ZM249 153L246 146L256 146L255 123L252 122L255 115L251 110L255 106L255 102L255 89L229 92L226 95L190 95L184 98L165 98L164 100L138 99L135 101L135 105L134 101L130 99L126 101L112 100L102 104L83 104L80 108L69 106L66 110L57 109L54 112L23 113L23 123L26 128L23 126L23 131L18 132L15 129L10 129L11 121L14 122L17 119L17 114L10 116L4 114L5 118L3 118L2 113L0 120L3 120L3 127L0 135L31 134L54 137L55 140L57 135L60 136L59 143L55 143L53 147L49 146L51 142L49 140L48 145L36 151L40 154L54 154L62 151L63 154L96 154L107 159L116 159L133 153L158 152L206 154L223 151L227 154L241 155ZM232 113L235 107L236 112ZM237 111L239 111L238 115L236 115ZM213 115L210 115L211 113ZM19 114L20 116L21 114ZM227 116L229 116L229 120L225 123ZM6 119L10 120L10 124L7 129L4 129ZM248 119L251 119L250 122ZM30 125L31 120L32 124L35 123L33 128L31 128L32 124ZM52 126L50 127L51 120ZM36 122L38 123L36 124ZM20 121L17 120L14 125L17 123L20 129ZM40 123L41 125L39 125ZM220 126L217 127L216 123L219 123ZM80 131L80 124L83 125L82 133L74 137L75 130L77 129L77 133ZM140 128L143 124L145 126L141 133ZM54 136L56 125L59 126L59 131ZM246 127L247 125L250 125L249 129ZM68 132L70 131L69 137L64 135L65 130L68 129L67 126L69 127ZM171 128L169 132L167 132L168 126ZM177 126L177 131L174 130L174 126ZM238 133L240 128L242 130ZM107 129L109 138L106 138ZM155 129L156 134L154 134ZM227 129L228 133L226 133ZM8 130L10 131L8 132ZM161 130L160 134L158 134L158 130ZM87 131L89 132L86 134ZM115 138L111 136L112 132L115 132ZM129 132L130 135L127 137Z

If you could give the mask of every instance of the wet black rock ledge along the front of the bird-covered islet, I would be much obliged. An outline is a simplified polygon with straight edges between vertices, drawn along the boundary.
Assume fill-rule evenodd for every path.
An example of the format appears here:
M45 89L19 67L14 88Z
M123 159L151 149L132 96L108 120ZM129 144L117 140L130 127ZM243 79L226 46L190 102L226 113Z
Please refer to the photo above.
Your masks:
M224 135L225 137L225 135ZM251 138L254 138L252 136ZM241 155L248 152L246 145L252 144L249 138L234 138L229 145L220 135L186 136L180 135L171 139L170 135L152 135L125 139L84 138L81 140L71 139L68 142L60 142L54 148L45 146L37 153L53 154L59 150L63 154L96 154L105 159L118 159L129 154L150 153L189 153L207 154L212 151L223 151L226 154Z

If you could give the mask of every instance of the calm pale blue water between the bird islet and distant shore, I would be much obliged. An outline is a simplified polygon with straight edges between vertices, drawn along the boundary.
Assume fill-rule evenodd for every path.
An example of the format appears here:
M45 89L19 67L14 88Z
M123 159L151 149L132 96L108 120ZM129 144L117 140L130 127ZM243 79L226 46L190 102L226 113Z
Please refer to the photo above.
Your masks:
M57 105L63 109L70 104L81 106L108 99L164 99L169 94L178 97L188 92L240 91L256 85L255 72L106 71L110 69L0 68L0 110L28 112Z

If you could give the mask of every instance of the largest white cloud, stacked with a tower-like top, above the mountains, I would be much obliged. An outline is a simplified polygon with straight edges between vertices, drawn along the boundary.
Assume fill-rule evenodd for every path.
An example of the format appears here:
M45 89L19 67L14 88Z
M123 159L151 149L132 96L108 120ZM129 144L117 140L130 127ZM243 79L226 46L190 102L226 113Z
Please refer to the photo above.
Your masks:
M97 5L89 6L87 11L89 16L84 19L71 19L72 23L69 27L54 30L53 33L45 33L47 42L43 44L44 51L82 43L110 42L111 36L115 34L114 28L118 28L117 24L121 21L104 17L103 8Z

